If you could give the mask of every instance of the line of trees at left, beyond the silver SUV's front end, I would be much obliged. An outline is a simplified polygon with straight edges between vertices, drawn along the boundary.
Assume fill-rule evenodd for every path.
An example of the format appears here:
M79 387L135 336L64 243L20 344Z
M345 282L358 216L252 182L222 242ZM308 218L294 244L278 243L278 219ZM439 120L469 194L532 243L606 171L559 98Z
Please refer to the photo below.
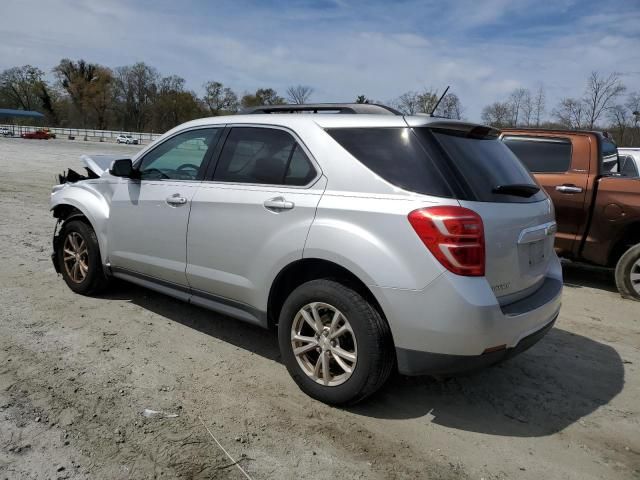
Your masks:
M313 89L292 86L287 98L272 88L242 96L218 81L203 85L198 96L178 75L161 75L139 62L114 69L62 59L53 81L32 65L0 73L0 107L36 110L50 126L137 132L164 132L180 123L211 115L228 115L244 107L304 103Z

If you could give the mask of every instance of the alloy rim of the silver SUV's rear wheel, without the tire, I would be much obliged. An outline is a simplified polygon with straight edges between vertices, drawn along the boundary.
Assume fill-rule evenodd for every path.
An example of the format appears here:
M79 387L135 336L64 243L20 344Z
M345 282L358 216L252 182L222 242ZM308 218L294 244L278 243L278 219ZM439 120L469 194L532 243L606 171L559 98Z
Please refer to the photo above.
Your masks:
M358 347L351 324L327 303L309 303L298 311L291 325L291 347L300 368L321 385L341 385L356 368Z

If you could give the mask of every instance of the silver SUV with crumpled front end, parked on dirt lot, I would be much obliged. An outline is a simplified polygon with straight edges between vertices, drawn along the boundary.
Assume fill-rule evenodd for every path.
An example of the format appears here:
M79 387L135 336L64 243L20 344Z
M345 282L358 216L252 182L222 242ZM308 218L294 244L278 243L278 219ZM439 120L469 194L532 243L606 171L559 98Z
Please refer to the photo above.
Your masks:
M553 207L496 130L372 105L276 113L296 108L311 107L188 122L131 159L83 157L89 176L61 175L51 196L69 287L115 277L277 325L293 379L331 404L394 369L497 363L552 327Z

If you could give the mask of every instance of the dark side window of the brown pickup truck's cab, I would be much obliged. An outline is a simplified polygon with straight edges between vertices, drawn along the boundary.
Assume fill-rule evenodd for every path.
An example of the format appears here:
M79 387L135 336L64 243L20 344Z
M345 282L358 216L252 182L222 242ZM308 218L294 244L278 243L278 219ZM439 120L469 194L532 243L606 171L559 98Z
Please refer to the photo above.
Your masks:
M569 139L504 137L503 142L534 173L563 173L571 166Z

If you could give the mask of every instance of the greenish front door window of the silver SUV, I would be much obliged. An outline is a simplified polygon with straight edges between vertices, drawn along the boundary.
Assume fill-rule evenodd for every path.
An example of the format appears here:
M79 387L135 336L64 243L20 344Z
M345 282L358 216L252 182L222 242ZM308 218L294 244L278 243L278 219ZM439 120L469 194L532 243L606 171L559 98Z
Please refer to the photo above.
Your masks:
M215 146L221 128L180 133L147 153L140 162L142 180L195 180L207 152Z

